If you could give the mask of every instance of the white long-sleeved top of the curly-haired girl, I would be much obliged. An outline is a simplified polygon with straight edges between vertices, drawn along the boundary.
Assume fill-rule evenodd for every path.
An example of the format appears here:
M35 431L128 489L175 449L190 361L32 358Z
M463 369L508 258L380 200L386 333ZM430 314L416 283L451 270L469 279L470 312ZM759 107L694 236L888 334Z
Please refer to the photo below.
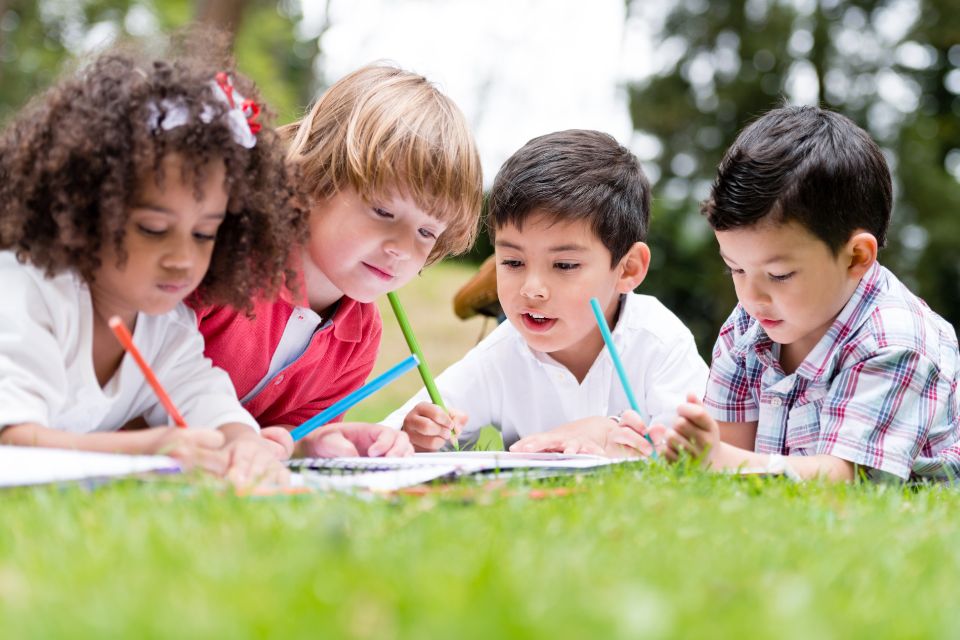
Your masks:
M129 355L103 388L93 368L90 289L74 273L46 278L0 251L0 429L33 422L87 433L143 416L172 424ZM203 357L196 317L184 305L141 313L133 341L191 427L241 422L258 429L225 372Z

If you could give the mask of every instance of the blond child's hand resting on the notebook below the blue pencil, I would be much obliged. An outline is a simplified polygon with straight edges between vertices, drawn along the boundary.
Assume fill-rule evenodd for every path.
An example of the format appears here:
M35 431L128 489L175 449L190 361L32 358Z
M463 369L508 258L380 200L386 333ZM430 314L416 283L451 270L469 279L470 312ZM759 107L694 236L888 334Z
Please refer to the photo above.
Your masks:
M308 458L393 458L412 455L413 446L402 431L382 424L350 422L317 429L303 439L300 452Z

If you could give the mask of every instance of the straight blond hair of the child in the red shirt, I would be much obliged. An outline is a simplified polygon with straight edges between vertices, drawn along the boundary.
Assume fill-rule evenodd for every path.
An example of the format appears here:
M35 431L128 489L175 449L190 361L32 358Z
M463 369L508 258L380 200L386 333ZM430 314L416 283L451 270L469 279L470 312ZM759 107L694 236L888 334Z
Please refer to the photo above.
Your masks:
M427 264L472 246L483 200L480 156L463 113L426 78L361 67L280 134L314 197L352 187L372 201L398 191L445 222Z

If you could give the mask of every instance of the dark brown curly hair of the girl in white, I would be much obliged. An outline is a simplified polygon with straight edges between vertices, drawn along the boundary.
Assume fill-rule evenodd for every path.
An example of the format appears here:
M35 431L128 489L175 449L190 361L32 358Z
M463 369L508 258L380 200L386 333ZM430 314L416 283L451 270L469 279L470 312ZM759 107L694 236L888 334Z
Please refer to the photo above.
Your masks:
M0 248L48 275L75 270L92 281L107 238L126 260L125 226L139 181L152 174L162 184L162 161L176 153L198 194L203 167L216 159L226 167L227 216L199 299L249 310L255 295L295 281L289 253L306 237L307 217L285 149L269 127L251 149L234 141L222 117L229 106L215 98L211 81L224 71L245 97L261 104L259 96L220 40L207 34L201 50L192 37L190 50L166 60L129 46L104 53L8 124L0 135ZM171 104L189 115L183 126L164 130L157 123Z

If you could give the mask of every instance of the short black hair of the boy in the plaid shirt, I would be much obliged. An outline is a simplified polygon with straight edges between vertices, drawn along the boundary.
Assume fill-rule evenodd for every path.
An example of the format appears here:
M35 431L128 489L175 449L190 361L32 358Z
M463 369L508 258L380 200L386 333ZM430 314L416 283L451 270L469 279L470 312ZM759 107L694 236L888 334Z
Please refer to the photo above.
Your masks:
M857 229L886 243L893 185L883 152L846 116L773 109L727 149L701 211L717 231L795 220L836 254Z

